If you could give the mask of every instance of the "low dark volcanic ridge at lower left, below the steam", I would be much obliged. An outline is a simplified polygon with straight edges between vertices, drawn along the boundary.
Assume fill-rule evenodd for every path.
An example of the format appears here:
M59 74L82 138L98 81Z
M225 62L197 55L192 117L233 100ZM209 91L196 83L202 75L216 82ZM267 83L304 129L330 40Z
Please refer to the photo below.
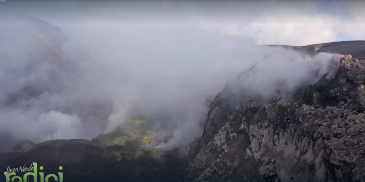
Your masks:
M175 182L183 178L188 165L183 158L133 143L105 147L80 139L50 140L19 152L0 153L4 171L34 162L38 168L44 166L45 174L57 174L62 166L64 182Z

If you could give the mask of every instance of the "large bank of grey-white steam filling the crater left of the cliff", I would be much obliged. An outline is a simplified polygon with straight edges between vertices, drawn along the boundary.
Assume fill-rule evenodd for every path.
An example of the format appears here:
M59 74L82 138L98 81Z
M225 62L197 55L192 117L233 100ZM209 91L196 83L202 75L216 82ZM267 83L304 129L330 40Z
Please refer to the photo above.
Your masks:
M169 130L184 131L172 146L185 145L202 132L206 98L245 67L237 51L248 47L189 24L152 24L146 33L144 24L61 31L36 18L2 21L17 31L2 29L13 38L1 50L1 130L33 142L91 139L164 111Z

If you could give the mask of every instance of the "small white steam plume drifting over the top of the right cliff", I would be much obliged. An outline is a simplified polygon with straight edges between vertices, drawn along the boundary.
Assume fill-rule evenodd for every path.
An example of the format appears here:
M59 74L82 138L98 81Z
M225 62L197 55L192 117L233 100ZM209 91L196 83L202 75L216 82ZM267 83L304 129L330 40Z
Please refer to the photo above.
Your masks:
M317 82L324 75L332 77L339 62L340 57L331 53L305 55L295 50L278 49L240 74L230 88L252 91L263 99L286 97L300 87Z

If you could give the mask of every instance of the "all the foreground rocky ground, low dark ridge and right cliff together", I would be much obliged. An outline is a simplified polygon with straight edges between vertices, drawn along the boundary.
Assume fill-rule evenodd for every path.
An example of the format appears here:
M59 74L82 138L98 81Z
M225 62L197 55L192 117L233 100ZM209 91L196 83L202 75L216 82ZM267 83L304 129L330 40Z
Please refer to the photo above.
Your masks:
M361 182L364 62L342 56L332 76L324 74L291 97L269 102L259 93L225 87L210 104L201 137L179 150L143 147L146 140L140 134L148 129L135 121L131 128L91 141L27 144L19 152L0 153L0 166L21 165L42 155L43 164L61 164L67 178L80 181ZM54 158L55 153L61 157ZM80 168L70 171L71 166ZM90 171L92 175L83 175Z

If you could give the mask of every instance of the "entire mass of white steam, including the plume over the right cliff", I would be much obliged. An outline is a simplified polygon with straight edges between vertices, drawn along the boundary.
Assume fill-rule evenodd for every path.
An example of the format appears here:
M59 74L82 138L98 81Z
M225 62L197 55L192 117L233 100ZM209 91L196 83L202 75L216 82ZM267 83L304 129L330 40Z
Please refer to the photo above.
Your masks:
M122 17L116 13L119 9L110 15L109 9L103 10L100 17L64 19L60 28L67 40L60 49L50 46L53 42L29 24L2 23L0 134L34 142L91 139L131 118L157 115L155 120L164 124L156 128L173 130L173 137L157 148L173 149L201 135L207 97L216 96L242 71L255 66L251 76L242 74L234 88L270 98L336 70L331 54L310 57L256 46L256 42L276 40L257 41L250 33L245 38L227 35L242 32L234 26L221 34L209 26L202 30L197 22L148 16L138 21L117 19ZM103 16L109 21L103 21ZM256 26L260 30L267 25L262 22ZM261 33L265 37L277 33L276 29L266 31Z

